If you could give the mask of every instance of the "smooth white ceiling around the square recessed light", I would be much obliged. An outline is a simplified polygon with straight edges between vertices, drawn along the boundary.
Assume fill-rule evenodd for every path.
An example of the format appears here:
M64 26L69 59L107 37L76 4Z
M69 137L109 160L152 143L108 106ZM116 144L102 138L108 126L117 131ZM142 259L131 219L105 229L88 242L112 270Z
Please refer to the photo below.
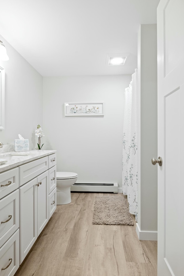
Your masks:
M42 76L132 74L139 26L156 23L158 3L0 0L0 34ZM108 53L130 54L124 65L108 66Z

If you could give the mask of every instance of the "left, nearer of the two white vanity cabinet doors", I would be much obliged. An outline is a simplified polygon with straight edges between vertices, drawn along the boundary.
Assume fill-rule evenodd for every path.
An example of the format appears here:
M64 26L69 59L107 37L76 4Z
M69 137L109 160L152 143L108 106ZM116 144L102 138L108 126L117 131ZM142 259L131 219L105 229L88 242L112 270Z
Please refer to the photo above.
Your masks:
M37 239L37 178L20 190L20 264Z

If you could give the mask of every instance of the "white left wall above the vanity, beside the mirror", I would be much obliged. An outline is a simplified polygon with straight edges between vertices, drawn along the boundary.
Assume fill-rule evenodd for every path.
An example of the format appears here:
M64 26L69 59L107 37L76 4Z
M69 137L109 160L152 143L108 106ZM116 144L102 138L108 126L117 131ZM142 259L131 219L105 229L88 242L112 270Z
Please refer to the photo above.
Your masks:
M43 77L3 38L8 61L0 60L5 68L5 129L0 141L14 143L18 134L29 139L30 150L37 143L34 129L43 122Z

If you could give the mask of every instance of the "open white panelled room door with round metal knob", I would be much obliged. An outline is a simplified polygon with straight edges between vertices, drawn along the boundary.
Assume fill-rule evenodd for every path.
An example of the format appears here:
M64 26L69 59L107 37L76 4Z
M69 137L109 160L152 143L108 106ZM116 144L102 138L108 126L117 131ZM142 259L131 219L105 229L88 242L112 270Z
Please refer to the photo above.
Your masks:
M158 276L184 275L184 0L161 0L158 43ZM157 156L157 157L158 157Z

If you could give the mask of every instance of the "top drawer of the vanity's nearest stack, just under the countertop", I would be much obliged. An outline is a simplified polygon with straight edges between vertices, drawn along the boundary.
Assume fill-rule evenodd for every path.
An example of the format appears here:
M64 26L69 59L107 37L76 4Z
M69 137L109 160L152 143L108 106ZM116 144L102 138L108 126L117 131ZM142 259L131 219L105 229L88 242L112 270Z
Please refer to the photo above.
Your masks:
M0 199L16 190L19 185L18 168L1 173Z

